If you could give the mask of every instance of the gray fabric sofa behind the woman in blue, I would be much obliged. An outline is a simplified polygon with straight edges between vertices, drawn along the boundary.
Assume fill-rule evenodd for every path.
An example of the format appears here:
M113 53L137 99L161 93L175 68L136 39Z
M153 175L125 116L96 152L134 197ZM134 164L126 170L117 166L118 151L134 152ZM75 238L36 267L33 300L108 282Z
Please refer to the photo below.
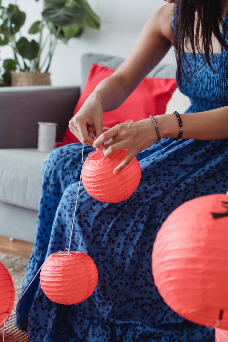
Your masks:
M84 87L92 63L116 69L123 58L82 56ZM148 75L175 78L173 65L159 64ZM0 88L0 236L33 241L41 190L43 161L38 152L38 121L57 122L57 141L72 117L80 87Z

